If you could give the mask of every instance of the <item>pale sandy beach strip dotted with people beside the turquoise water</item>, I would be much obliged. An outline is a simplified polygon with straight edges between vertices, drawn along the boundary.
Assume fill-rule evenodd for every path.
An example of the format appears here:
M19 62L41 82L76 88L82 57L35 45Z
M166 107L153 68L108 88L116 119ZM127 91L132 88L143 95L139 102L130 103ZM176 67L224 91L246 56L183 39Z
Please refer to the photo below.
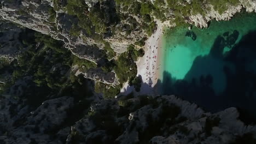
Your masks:
M141 92L135 93L137 94L154 94L154 86L159 79L158 71L159 63L158 60L158 51L161 47L161 37L162 37L162 23L158 23L158 28L155 33L149 37L146 41L144 51L145 55L138 59L137 64L137 76L141 75L142 77L142 87ZM121 94L128 94L133 91L133 87L130 87L126 82L124 87L121 89Z

